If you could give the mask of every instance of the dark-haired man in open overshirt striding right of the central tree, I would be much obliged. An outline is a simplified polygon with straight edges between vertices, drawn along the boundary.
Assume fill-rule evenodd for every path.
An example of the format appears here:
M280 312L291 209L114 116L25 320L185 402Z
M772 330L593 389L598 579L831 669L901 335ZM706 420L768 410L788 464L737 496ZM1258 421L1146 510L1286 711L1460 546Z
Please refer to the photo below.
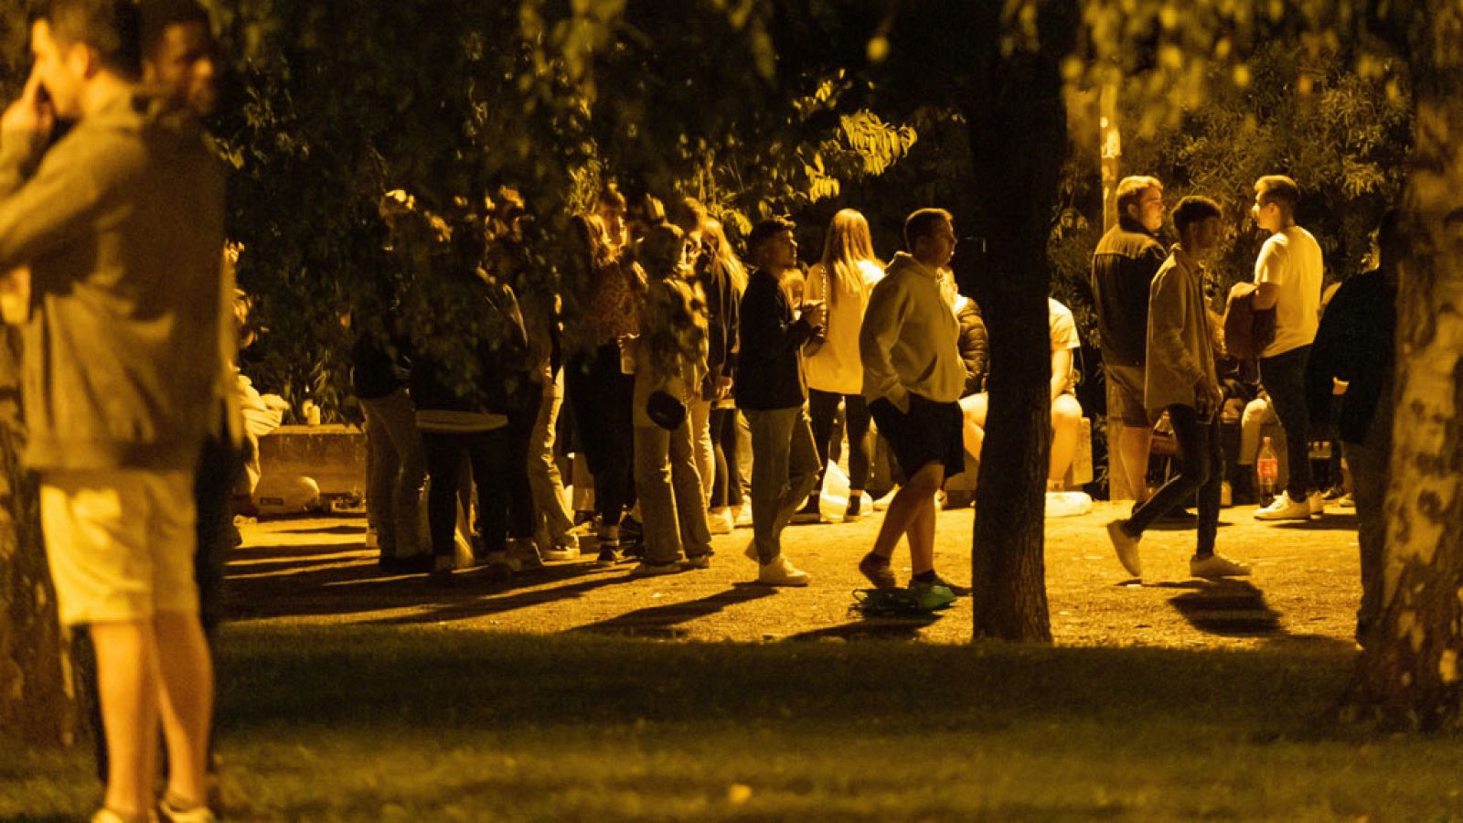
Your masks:
M1179 242L1148 287L1148 343L1144 404L1157 419L1169 413L1178 439L1179 473L1132 513L1107 524L1122 567L1143 577L1138 540L1143 530L1198 492L1198 548L1189 559L1194 577L1235 577L1249 567L1214 554L1219 532L1220 483L1225 455L1219 448L1219 409L1223 394L1214 370L1214 337L1204 305L1203 262L1223 231L1219 205L1208 198L1184 198L1173 209Z

